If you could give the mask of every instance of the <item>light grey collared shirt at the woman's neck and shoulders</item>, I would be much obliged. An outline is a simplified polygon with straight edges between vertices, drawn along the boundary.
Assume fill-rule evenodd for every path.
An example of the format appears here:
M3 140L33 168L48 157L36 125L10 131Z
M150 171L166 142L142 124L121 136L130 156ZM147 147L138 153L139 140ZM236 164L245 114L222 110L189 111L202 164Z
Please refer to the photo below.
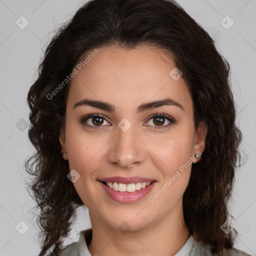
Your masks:
M88 228L80 232L78 242L71 243L64 247L57 256L94 256L91 255L87 244L90 243L92 237L92 229ZM97 254L95 254L96 256ZM201 241L196 241L192 235L189 236L183 247L174 256L251 256L244 251L232 248L230 250L224 249L222 253L213 254L210 251L210 245L203 245ZM157 256L157 255L155 255Z

